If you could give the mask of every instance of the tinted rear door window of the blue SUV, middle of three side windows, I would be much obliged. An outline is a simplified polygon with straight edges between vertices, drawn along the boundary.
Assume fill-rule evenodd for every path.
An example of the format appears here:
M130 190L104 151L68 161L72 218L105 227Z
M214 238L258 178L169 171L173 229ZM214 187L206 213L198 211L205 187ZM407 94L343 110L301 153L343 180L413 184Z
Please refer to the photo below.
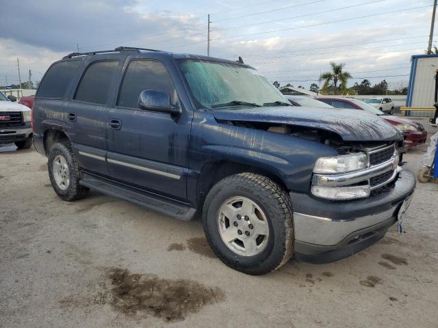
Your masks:
M75 100L105 105L110 87L117 73L118 61L96 61L88 66L79 86Z

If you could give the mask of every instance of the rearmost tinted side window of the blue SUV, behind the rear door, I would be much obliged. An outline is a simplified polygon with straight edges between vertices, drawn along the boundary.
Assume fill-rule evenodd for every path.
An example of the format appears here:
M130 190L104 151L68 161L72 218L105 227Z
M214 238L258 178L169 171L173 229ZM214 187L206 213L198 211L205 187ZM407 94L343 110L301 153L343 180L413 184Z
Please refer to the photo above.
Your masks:
M81 61L62 61L47 70L38 87L38 98L64 98L67 87L75 76Z

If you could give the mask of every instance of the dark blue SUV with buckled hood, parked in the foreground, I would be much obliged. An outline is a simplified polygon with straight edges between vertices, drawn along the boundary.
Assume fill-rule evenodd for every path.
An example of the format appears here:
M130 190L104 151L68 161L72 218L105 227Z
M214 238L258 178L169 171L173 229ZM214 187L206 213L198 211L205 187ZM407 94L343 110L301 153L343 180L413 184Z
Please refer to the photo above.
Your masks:
M42 78L34 139L62 200L95 189L202 217L218 258L260 275L293 255L331 262L372 245L415 188L398 165L403 137L385 120L291 106L242 62L72 53Z

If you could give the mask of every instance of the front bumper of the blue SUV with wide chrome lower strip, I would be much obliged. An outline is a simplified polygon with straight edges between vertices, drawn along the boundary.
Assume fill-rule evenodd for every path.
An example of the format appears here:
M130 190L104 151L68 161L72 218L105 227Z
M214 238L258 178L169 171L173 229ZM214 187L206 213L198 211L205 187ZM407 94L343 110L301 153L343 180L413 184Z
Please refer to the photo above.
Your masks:
M372 245L396 222L415 183L415 175L402 169L394 187L361 200L333 202L291 192L296 258L333 262Z

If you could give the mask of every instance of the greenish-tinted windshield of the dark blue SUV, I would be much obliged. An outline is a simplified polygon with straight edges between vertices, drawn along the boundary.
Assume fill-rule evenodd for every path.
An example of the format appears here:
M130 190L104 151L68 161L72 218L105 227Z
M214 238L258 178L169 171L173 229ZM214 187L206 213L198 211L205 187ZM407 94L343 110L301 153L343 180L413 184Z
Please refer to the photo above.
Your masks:
M289 105L283 94L256 70L218 61L184 59L181 70L197 107Z

